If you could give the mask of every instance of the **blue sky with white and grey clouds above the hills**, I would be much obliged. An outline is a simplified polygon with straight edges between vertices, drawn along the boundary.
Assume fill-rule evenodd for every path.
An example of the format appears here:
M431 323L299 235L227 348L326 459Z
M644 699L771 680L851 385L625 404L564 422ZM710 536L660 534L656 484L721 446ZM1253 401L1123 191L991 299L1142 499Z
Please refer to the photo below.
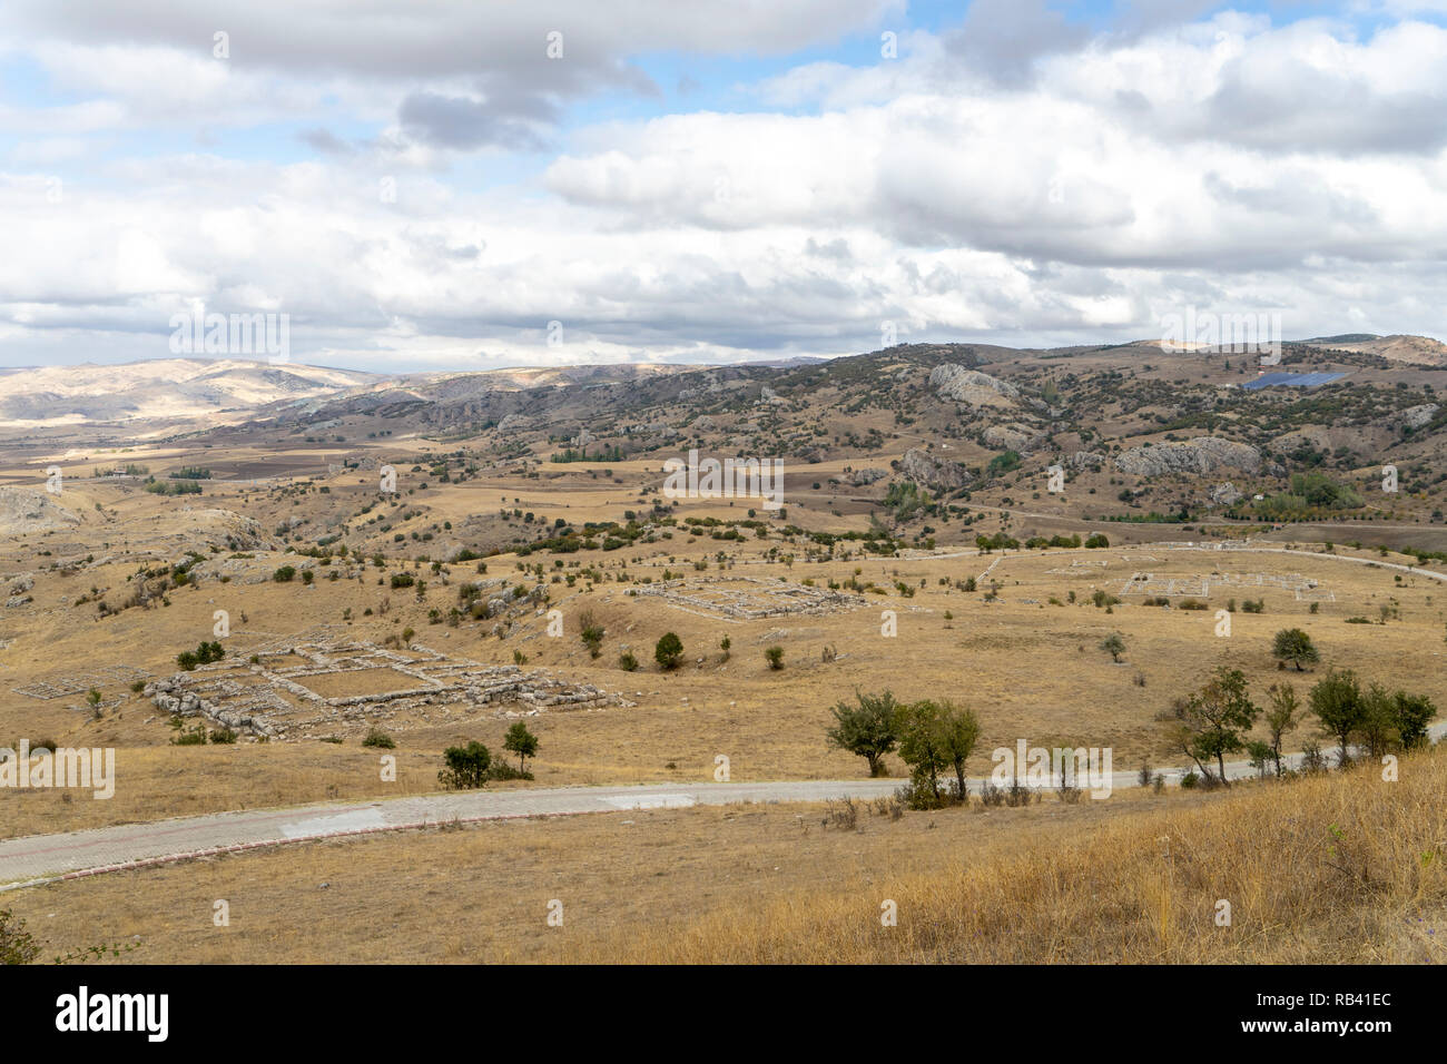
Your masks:
M389 373L1447 339L1444 292L1447 0L0 4L0 366L217 314Z

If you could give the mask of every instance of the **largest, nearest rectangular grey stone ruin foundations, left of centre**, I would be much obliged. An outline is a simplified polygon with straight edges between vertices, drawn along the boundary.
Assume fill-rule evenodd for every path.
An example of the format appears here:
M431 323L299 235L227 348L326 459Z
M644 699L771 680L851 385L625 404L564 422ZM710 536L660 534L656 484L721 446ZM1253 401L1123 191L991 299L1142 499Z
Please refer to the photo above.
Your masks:
M346 688L347 679L383 689L323 693ZM314 689L318 686L321 691ZM282 740L334 735L379 721L438 722L450 719L446 714L453 709L492 706L499 717L528 717L543 709L634 705L547 670L482 664L415 643L392 650L356 640L275 643L156 679L145 686L145 695L177 717L201 717L239 732ZM431 711L440 714L437 719Z

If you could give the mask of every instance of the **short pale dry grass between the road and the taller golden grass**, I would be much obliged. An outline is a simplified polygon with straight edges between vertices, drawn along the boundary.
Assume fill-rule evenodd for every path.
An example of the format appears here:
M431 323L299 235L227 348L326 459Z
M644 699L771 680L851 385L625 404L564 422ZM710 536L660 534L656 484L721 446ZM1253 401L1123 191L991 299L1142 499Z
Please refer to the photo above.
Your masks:
M1019 809L861 811L822 827L818 805L732 805L408 831L285 845L3 896L56 947L130 941L126 960L556 961L612 934L674 926L718 905L939 874L961 854L1009 853L1023 834L1068 838L1134 808L1214 801L1121 792ZM893 874L891 873L891 874ZM546 924L564 903L564 926ZM226 899L232 925L211 924Z

